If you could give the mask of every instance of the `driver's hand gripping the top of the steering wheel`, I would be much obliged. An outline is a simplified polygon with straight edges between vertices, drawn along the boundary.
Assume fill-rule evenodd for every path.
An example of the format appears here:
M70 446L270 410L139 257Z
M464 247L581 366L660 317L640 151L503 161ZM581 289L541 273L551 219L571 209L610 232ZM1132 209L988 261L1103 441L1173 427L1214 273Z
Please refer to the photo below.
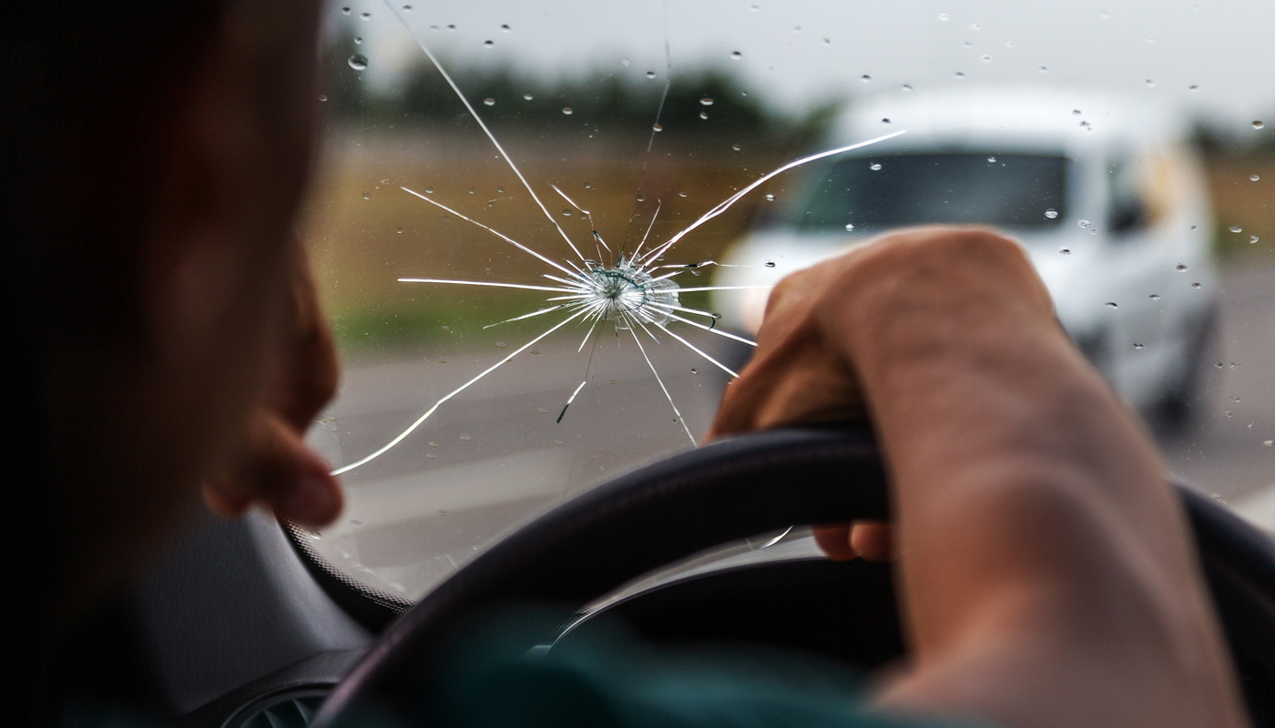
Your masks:
M853 305L867 269L889 270L898 280L924 279L932 286L961 286L961 275L935 277L936 259L951 265L954 247L968 236L989 231L923 227L899 231L845 255L788 275L775 287L757 331L757 351L740 379L731 382L709 439L793 425L844 422L868 416L856 377L852 330L862 329ZM997 236L998 237L998 236ZM959 258L955 259L959 265ZM970 260L977 265L977 260ZM819 546L834 560L892 556L891 533L880 521L815 528Z

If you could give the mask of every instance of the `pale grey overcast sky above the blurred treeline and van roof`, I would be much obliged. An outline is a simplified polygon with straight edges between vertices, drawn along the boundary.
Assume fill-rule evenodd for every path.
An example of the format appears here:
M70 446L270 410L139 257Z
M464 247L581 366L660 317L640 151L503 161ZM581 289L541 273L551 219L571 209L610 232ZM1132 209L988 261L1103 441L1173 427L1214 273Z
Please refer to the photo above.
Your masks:
M1010 83L1184 103L1241 134L1255 134L1251 122L1265 113L1275 120L1271 0L668 0L667 10L662 0L395 5L404 3L412 5L404 18L455 65L505 65L546 79L606 71L659 84L667 37L674 74L714 66L798 115L901 84ZM361 20L362 13L371 18ZM379 0L338 1L328 18L330 28L348 24L363 37L372 84L418 59ZM646 82L646 71L657 79Z

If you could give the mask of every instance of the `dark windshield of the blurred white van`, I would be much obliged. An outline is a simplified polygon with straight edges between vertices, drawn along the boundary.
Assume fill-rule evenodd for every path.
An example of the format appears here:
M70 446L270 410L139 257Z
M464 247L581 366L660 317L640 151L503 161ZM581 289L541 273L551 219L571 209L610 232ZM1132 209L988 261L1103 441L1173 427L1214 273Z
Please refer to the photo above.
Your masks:
M1065 157L945 153L841 159L815 176L794 222L805 231L843 232L926 223L1051 228L1066 217L1066 186Z

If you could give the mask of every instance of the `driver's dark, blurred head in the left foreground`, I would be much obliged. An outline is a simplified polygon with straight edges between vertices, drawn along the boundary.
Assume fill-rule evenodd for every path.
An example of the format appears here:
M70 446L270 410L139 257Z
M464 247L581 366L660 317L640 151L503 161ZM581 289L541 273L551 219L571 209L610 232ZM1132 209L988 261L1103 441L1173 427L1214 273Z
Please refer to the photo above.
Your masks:
M317 6L43 4L6 43L10 490L38 483L24 552L62 617L181 521L291 363Z

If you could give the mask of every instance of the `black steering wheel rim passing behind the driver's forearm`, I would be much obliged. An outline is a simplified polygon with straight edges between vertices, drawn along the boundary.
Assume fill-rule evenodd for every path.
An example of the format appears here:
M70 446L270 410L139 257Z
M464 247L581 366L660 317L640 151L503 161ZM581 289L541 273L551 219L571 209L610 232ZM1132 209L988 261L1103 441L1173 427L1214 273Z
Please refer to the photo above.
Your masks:
M1275 542L1196 491L1176 490L1253 723L1275 725ZM727 541L794 523L887 516L885 472L863 427L775 430L673 455L567 501L465 565L386 629L312 725L332 728L366 705L384 713L409 703L421 660L484 607L579 607ZM880 592L862 598L894 599ZM547 622L544 634L557 626Z

